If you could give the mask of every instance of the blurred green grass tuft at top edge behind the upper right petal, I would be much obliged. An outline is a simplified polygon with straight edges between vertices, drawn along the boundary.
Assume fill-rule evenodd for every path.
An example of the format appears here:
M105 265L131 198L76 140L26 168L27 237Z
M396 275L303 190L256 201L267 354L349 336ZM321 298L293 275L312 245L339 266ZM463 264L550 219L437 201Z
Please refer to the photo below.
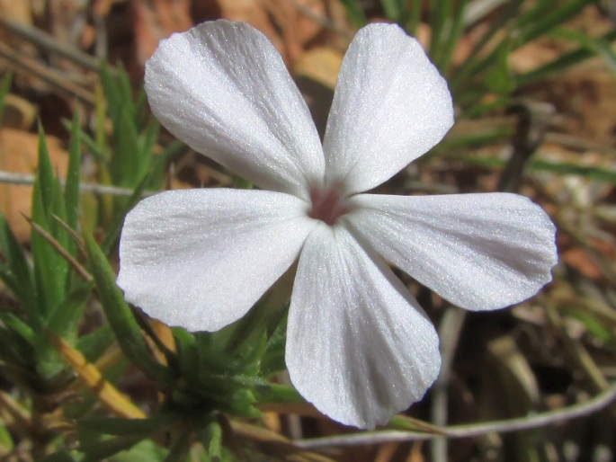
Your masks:
M361 2L346 0L342 3L356 27L367 23ZM511 104L513 93L523 84L564 70L593 55L601 56L608 67L616 69L615 55L610 47L615 31L592 38L585 33L563 30L565 22L592 3L591 0L514 0L495 4L431 0L426 4L380 0L385 18L397 22L411 35L416 33L420 20L427 23L430 29L428 55L450 84L454 101L462 110L461 117L478 117L487 111L507 107ZM454 51L462 36L487 17L487 27L478 36L468 58L454 63ZM578 43L579 49L564 53L553 62L521 76L514 75L509 67L510 54L548 34L573 40ZM487 94L493 94L495 102L483 102Z

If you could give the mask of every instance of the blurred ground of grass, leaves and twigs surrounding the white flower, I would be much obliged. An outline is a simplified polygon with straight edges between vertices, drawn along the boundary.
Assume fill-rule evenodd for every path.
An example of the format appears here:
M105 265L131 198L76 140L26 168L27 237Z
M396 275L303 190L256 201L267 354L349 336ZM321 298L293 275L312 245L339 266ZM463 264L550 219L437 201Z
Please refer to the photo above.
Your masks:
M321 131L354 32L397 22L457 122L380 190L520 192L558 227L554 281L511 309L467 315L405 279L443 370L386 429L303 402L284 319L191 334L115 286L141 197L235 182L161 129L142 91L159 40L218 18L272 40ZM615 460L615 21L613 2L587 0L0 1L0 461Z

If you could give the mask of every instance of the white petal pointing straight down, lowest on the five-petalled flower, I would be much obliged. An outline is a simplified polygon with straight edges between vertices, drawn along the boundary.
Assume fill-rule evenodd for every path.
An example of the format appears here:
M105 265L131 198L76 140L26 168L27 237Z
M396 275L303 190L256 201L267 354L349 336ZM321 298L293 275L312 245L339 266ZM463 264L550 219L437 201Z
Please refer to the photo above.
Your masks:
M286 361L302 396L362 428L421 399L441 365L433 324L385 262L322 223L299 257Z

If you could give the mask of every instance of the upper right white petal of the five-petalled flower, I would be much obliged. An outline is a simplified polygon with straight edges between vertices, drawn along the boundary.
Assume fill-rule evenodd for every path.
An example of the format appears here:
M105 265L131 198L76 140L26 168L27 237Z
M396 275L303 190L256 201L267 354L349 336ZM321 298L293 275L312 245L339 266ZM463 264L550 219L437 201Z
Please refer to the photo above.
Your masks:
M326 182L367 191L423 155L453 124L451 94L417 40L397 25L357 33L327 120Z

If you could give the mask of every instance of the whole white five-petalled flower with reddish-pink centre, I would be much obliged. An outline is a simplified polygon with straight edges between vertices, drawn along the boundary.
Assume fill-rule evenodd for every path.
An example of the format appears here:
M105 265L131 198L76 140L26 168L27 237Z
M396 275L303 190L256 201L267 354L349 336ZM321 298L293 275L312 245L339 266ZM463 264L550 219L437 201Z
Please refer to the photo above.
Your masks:
M506 307L551 280L554 226L504 193L365 193L453 123L447 84L395 25L359 31L321 145L263 34L206 22L161 42L147 96L177 138L261 191L166 191L121 235L118 284L167 324L214 331L245 315L298 262L286 362L299 393L338 422L388 422L437 377L437 334L389 269L455 305Z

